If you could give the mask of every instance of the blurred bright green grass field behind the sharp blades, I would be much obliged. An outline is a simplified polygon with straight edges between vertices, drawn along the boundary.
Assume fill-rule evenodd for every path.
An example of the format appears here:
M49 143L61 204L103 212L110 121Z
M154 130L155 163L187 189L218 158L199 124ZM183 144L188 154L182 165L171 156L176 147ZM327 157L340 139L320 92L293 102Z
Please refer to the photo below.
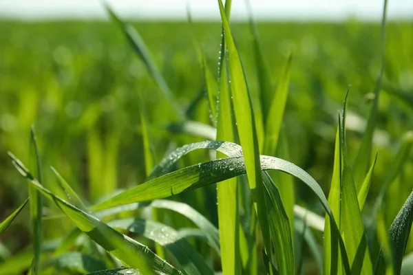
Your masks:
M187 118L211 124L204 76L193 45L193 30L186 22L136 22L133 24L153 55ZM255 111L257 67L251 30L233 23ZM354 159L366 127L374 83L379 74L379 23L257 23L265 58L277 83L293 53L290 89L284 114L290 162L306 170L328 194L334 160L337 111L346 89L347 142ZM220 23L194 24L207 63L217 74ZM411 22L390 22L386 30L385 71L379 100L374 153L379 152L372 186L363 214L368 216L388 173L403 135L413 127L412 100L391 91L412 92L413 28ZM390 93L389 93L390 92ZM131 50L116 25L97 21L21 23L0 21L0 221L28 197L27 183L12 166L8 151L24 163L30 161L30 126L34 124L42 161L44 186L64 197L53 166L85 201L96 203L115 190L145 181L145 159L139 109L145 107L155 163L178 146L205 140L179 133L171 124L176 113L162 96L145 64ZM172 130L171 130L172 129ZM178 167L207 162L207 151L196 151ZM403 164L385 197L392 221L413 188L413 157ZM324 216L317 197L295 186L296 203ZM173 199L183 201L218 226L216 186L189 190ZM44 214L59 215L45 202ZM30 213L22 212L0 237L0 266L30 246ZM173 228L191 226L178 214L162 212ZM56 230L59 228L59 230ZM72 223L45 219L45 239L67 234ZM317 234L321 239L321 234ZM150 243L148 244L150 245ZM200 251L207 245L197 242ZM406 254L413 251L413 242ZM11 258L10 258L11 257ZM22 268L30 259L21 260ZM213 261L213 260L211 260ZM219 265L214 262L215 265ZM308 273L317 274L308 263ZM219 267L218 267L219 269ZM1 274L1 272L0 272Z

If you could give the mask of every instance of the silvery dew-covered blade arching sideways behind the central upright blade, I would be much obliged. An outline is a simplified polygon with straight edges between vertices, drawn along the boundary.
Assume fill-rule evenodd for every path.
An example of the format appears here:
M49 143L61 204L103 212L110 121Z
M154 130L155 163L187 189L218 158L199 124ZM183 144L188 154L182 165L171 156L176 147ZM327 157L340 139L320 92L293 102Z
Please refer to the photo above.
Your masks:
M242 157L242 148L237 144L231 142L199 142L195 144L189 144L178 148L170 155L162 159L160 164L153 169L153 175L161 174L162 171L167 171L169 162L176 162L184 154L189 153L198 148L209 148L231 155L235 157L229 157L225 159L217 159L212 162L206 162L203 164L197 164L189 166L187 168L180 169L178 171L163 175L151 181L147 181L145 184L140 184L134 188L131 188L125 192L122 192L112 199L98 203L90 208L91 210L103 210L114 206L119 206L128 203L134 203L138 201L150 201L152 199L158 199L162 197L169 197L176 195L178 192L183 192L187 189L199 188L207 184L215 183L242 175L246 173L244 166L244 159ZM277 157L261 156L262 170L280 170L290 175L301 179L308 187L315 192L319 198L322 206L328 213L331 219L331 228L334 232L339 233L337 223L332 216L330 206L324 192L322 191L317 181L313 179L304 170L295 166L291 162L287 162L284 159ZM264 184L267 181L264 181ZM340 234L335 235L336 239L339 239L340 250L343 252L341 257L343 259L343 265L346 268L347 273L350 272L350 266L348 265L348 259L346 258L346 248L344 247L343 239Z

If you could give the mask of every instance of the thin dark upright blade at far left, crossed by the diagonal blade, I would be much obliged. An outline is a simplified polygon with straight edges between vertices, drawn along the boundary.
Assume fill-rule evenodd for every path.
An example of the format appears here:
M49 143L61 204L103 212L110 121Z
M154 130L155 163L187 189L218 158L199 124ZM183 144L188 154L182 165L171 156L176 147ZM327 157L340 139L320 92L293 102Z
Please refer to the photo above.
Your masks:
M41 182L41 164L39 157L39 150L37 148L36 135L34 134L34 126L30 129L30 148L32 148L31 162L32 167L35 168L36 177ZM32 223L32 243L33 243L33 274L39 274L40 268L40 254L42 243L42 199L39 191L34 186L29 186L30 197L30 220Z

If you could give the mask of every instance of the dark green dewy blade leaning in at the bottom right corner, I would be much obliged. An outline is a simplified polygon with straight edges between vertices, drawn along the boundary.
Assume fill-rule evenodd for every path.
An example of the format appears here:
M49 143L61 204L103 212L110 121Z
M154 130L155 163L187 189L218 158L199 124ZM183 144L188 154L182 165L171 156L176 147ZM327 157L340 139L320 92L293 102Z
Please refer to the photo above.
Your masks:
M413 221L413 192L410 193L405 204L397 214L389 230L390 249L392 254L393 274L401 274L401 264L409 239ZM383 250L381 250L379 261L377 261L375 274L382 274L379 267L383 266Z

